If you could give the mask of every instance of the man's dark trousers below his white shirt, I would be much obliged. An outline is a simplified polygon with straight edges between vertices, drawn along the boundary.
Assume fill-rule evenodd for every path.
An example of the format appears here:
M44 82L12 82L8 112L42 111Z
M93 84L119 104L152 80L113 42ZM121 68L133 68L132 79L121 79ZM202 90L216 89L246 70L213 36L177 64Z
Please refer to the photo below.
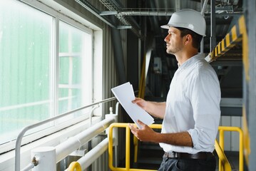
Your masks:
M200 159L179 159L163 156L158 171L215 171L216 159L214 156L205 160Z

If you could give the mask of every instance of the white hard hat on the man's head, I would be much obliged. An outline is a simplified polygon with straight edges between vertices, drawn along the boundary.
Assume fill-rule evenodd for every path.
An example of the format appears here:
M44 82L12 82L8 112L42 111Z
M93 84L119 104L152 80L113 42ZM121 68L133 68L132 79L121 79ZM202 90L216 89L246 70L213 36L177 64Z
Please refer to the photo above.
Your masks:
M161 28L169 29L170 26L188 28L201 36L205 36L205 18L200 12L193 9L176 11L170 17L168 24L161 26Z

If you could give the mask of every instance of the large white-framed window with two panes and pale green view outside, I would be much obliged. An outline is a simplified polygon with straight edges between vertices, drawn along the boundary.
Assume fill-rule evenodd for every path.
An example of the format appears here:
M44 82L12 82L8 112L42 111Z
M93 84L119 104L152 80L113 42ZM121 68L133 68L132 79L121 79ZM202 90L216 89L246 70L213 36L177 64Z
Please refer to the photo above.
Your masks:
M91 103L91 76L92 32L20 1L0 1L0 145L26 125Z

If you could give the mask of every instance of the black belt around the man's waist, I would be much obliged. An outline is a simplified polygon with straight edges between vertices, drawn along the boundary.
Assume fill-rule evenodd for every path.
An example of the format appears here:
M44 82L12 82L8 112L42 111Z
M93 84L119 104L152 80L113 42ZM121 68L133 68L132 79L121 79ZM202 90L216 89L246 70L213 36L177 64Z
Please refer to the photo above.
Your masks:
M213 152L198 152L195 154L190 154L186 152L165 152L163 155L169 158L179 158L179 159L200 159L206 160L209 157L213 157Z

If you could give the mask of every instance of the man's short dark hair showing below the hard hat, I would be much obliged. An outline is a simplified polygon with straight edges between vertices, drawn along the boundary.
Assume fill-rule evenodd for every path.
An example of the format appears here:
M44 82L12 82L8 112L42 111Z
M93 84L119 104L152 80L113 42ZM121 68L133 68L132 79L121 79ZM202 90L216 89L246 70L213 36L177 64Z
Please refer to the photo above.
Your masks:
M203 36L199 35L198 33L195 33L194 31L188 29L188 28L181 28L181 27L175 27L175 28L178 28L180 30L180 36L181 37L184 37L188 34L190 34L193 38L193 41L192 41L192 46L194 48L199 48L200 47L200 42L203 38Z

